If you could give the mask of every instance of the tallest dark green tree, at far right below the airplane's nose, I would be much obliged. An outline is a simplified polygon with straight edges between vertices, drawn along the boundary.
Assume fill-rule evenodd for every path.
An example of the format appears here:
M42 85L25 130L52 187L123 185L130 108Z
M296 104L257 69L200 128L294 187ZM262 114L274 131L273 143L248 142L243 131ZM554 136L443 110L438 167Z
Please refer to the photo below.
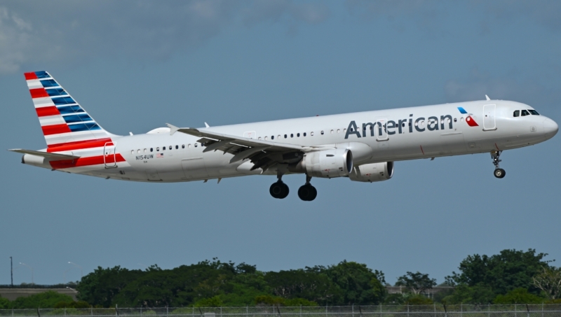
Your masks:
M498 255L469 255L461 261L460 273L452 272L446 276L450 285L466 284L466 286L482 285L490 288L493 293L506 294L515 288L526 288L530 293L539 294L540 290L533 285L532 278L539 274L543 267L546 253L528 251L503 250Z

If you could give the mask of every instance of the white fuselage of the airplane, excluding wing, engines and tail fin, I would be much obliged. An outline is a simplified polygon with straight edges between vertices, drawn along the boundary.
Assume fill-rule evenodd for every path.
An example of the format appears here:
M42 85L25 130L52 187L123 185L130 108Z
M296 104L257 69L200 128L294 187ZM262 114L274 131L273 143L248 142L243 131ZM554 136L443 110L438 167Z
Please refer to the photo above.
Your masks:
M461 113L459 107L467 113ZM360 165L508 150L540 143L556 134L555 122L543 115L513 116L514 111L524 109L533 108L515 101L469 101L199 130L300 146L337 147L349 142L365 143L371 153L362 162L355 162ZM468 119L475 120L477 125L469 125ZM376 125L376 122L381 124ZM121 162L59 170L127 181L156 182L276 174L273 169L264 173L262 169L250 171L252 164L248 160L230 163L233 157L230 153L219 150L203 153L205 147L197 141L200 137L184 133L170 135L169 128L156 129L148 134L113 136L111 139L114 148L109 152L106 148L91 148L61 153L121 155L124 159ZM33 160L26 157L24 161L33 164ZM36 165L49 167L47 163Z

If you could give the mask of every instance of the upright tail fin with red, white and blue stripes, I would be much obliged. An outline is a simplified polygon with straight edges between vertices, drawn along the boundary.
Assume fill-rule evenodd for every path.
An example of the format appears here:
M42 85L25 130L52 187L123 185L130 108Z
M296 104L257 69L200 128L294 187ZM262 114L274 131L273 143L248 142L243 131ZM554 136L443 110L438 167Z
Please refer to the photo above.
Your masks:
M111 142L105 131L46 71L25 73L48 152L95 148Z

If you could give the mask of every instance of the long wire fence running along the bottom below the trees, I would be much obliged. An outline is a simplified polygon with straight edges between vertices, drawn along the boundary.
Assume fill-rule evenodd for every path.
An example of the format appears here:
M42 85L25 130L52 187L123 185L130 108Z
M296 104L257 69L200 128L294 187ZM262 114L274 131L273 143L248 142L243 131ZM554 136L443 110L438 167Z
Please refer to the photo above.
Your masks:
M0 309L0 317L561 317L561 304Z

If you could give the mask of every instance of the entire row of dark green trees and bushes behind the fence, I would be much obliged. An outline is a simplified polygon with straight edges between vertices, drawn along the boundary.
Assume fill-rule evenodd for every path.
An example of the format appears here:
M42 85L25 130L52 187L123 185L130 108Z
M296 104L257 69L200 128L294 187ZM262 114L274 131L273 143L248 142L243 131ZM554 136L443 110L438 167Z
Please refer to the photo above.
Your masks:
M262 272L255 265L212 259L174 269L97 267L76 286L79 302L67 295L42 293L0 309L50 307L228 307L248 305L325 306L377 304L537 304L560 303L561 269L546 253L503 250L469 255L459 272L446 276L448 290L432 298L437 286L421 272L399 276L403 293L389 294L384 273L346 260L337 265ZM42 297L41 297L42 296ZM49 299L50 297L51 299ZM66 296L66 297L64 297ZM40 297L40 298L39 298ZM35 305L35 306L34 306Z

